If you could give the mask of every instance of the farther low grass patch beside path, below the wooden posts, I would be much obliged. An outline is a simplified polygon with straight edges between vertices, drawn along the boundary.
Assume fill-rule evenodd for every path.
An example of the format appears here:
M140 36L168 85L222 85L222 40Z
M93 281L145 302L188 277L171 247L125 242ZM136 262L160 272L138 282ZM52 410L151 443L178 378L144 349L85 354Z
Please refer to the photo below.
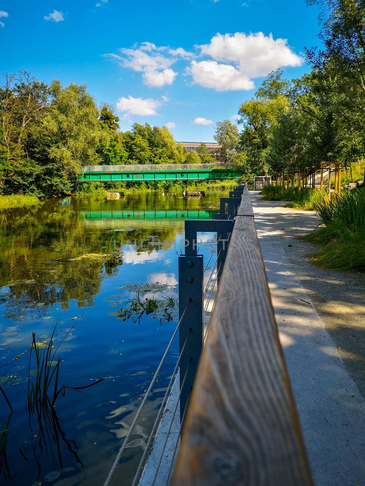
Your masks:
M264 199L268 201L289 201L285 205L286 208L306 210L315 210L317 201L324 197L324 192L318 189L307 187L298 191L296 187L294 189L286 189L276 184L264 186L262 193L264 194Z

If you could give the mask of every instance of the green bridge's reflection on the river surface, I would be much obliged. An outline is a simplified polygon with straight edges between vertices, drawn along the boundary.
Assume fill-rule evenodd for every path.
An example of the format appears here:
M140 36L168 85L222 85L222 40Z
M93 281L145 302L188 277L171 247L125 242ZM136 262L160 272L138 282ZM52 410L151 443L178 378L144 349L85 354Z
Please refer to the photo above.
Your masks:
M118 209L80 211L88 226L110 228L183 227L185 219L215 219L215 209Z

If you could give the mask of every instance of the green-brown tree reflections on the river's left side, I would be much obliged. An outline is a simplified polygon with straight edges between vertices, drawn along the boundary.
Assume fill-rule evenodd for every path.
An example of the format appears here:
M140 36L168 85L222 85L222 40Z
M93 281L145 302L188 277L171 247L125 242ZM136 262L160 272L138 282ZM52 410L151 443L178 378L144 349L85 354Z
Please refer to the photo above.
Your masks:
M177 236L176 226L158 222L156 229L132 231L87 227L79 217L79 206L58 201L0 215L0 286L10 285L9 293L1 296L7 317L38 317L55 302L62 309L68 309L70 300L80 308L93 305L102 281L113 277L123 264L123 243L136 240L137 253L151 253L166 249L158 240L173 242ZM90 254L103 256L71 260ZM40 308L39 303L45 306Z

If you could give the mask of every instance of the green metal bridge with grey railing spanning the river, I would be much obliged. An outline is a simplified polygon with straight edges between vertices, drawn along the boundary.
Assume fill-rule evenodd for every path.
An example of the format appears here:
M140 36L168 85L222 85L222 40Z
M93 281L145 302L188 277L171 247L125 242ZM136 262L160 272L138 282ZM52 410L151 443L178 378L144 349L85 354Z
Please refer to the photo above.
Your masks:
M237 179L240 174L230 164L91 165L79 176L82 182L180 181Z

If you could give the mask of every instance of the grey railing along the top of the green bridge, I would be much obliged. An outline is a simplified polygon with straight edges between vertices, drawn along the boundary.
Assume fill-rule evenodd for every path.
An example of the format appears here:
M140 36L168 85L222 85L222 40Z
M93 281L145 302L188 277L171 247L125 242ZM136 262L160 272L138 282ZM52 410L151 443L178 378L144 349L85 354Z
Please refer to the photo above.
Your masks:
M87 165L85 172L153 172L153 171L207 171L232 169L232 164L217 162L212 164L138 164L138 165Z

